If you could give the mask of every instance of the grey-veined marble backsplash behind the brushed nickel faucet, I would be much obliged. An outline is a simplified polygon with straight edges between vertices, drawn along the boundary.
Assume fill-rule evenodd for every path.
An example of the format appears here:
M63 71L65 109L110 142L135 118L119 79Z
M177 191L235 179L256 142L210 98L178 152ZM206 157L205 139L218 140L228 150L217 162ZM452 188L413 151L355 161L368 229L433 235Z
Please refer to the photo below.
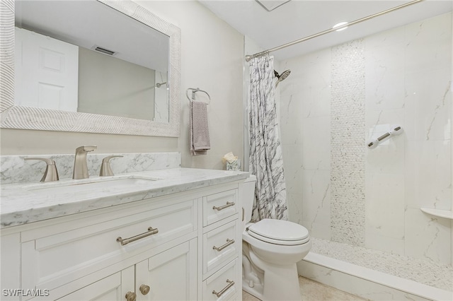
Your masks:
M113 173L142 172L180 167L180 153L105 153L93 151L86 155L89 175L99 175L103 158L108 155L122 155L110 160ZM55 160L60 179L71 178L75 155L2 155L0 156L1 184L37 182L44 175L46 164L24 158L50 158Z

